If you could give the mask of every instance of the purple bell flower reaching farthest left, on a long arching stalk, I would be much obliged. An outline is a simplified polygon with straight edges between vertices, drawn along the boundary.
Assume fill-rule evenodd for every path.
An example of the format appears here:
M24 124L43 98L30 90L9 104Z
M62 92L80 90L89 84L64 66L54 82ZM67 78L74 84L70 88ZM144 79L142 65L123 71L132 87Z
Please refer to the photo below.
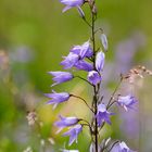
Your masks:
M52 90L52 93L45 93L46 97L51 98L50 101L48 101L48 104L54 104L54 107L64 101L67 101L69 99L69 93L67 92L55 92Z

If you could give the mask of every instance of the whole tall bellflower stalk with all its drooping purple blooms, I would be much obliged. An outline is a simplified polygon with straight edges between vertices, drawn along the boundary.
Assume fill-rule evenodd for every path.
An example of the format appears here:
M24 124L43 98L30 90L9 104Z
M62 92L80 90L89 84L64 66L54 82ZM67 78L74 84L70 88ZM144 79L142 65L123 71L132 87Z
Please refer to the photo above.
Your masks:
M127 96L117 96L115 98L116 90L112 93L111 99L105 104L103 103L103 96L100 93L100 88L102 87L102 74L103 74L103 67L105 62L105 53L107 51L107 38L105 34L102 34L100 36L102 47L99 49L96 49L96 33L99 29L94 28L94 18L97 14L94 1L85 1L85 0L60 0L61 3L65 4L66 7L63 9L63 12L67 11L72 8L77 8L78 11L85 16L81 5L84 3L88 3L91 9L92 14L92 24L88 23L86 18L83 16L83 20L91 27L91 38L90 40L84 42L83 45L76 45L73 46L69 50L69 53L66 56L63 56L63 61L60 63L60 65L63 66L63 69L66 72L49 72L50 75L53 76L52 80L54 81L53 86L60 85L66 81L71 81L74 78L80 78L85 81L87 81L92 88L93 88L93 100L92 104L89 105L88 101L83 99L81 97L71 94L68 92L55 92L52 90L51 93L46 93L45 96L49 98L48 104L53 104L53 107L56 107L58 104L62 102L66 102L69 100L71 97L78 98L85 104L89 107L92 118L90 121L86 121L83 118L78 118L75 116L68 116L64 117L62 115L59 116L60 121L55 122L54 125L59 128L60 132L64 128L68 128L63 136L69 136L69 142L68 145L72 145L74 142L77 142L78 135L84 129L84 126L89 127L90 136L92 139L91 149L93 152L102 151L102 149L107 148L106 142L103 143L103 148L99 148L100 143L98 143L98 137L99 137L99 130L102 129L104 124L111 125L111 116L114 115L114 113L110 112L109 109L114 104L117 103L118 106L124 107L126 111L128 109L132 109L134 104L137 103L137 99L134 96L127 94ZM100 29L101 30L101 29ZM103 49L102 49L103 48ZM68 69L75 68L76 71L84 71L87 73L87 77L81 77L79 75L75 75L74 73L68 72ZM73 71L72 71L73 72ZM121 78L121 81L123 78ZM117 87L118 88L118 87ZM117 89L116 88L116 89ZM104 141L104 140L103 140ZM114 142L115 143L115 142ZM113 151L113 145L111 145L111 151ZM116 142L117 143L117 142ZM116 152L130 152L131 150L126 145L125 142L118 142L116 144ZM109 150L110 148L107 148ZM78 150L66 150L63 149L63 152L78 152Z

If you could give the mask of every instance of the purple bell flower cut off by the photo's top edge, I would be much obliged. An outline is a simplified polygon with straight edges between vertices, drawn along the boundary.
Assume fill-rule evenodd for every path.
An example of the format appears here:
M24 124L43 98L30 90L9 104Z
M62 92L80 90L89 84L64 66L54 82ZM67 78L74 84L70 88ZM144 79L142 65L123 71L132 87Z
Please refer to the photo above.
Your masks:
M83 3L85 2L84 0L60 0L61 3L65 4L66 7L62 10L62 12L65 12L74 7L80 8Z

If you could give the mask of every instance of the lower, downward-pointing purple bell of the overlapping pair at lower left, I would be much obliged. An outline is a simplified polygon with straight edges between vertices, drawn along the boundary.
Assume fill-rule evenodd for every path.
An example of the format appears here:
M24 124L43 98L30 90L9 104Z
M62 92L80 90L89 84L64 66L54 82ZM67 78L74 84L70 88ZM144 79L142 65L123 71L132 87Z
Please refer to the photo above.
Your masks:
M77 136L81 130L83 130L83 126L78 124L73 128L71 128L68 131L66 131L65 134L63 134L63 136L69 136L68 145L72 145L74 141L76 141L77 143Z

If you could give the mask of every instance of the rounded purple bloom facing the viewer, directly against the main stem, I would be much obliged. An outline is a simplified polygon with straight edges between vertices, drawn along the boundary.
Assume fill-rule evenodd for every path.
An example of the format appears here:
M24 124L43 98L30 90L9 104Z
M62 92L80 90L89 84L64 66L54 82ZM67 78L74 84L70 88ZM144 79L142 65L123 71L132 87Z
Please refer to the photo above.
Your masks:
M91 72L88 73L88 80L89 80L92 85L96 86L97 84L99 84L99 83L102 80L102 78L101 78L101 76L99 75L98 72L91 71Z

